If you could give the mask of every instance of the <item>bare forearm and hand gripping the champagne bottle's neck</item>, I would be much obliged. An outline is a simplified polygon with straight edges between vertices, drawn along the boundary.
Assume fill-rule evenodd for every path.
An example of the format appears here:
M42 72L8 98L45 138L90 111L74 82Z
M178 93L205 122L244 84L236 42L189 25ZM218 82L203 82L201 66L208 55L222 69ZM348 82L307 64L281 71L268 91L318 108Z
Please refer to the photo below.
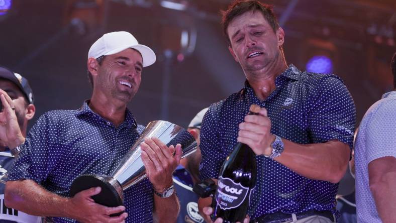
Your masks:
M245 117L239 125L238 141L252 148L257 155L270 155L275 136L271 134L271 121L267 110L259 115ZM298 144L282 139L284 151L275 160L294 172L315 180L337 183L347 169L350 149L337 140L326 143Z

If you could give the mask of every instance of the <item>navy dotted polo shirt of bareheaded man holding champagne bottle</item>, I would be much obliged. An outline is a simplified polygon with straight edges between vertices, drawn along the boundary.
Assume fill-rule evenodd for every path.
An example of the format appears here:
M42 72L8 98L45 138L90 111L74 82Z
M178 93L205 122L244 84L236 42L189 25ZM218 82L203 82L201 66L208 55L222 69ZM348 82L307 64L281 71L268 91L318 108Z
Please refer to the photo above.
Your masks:
M356 110L340 78L301 72L290 65L276 77L275 84L276 89L264 101L246 81L241 91L211 105L201 132L202 179L218 178L251 104L268 110L271 133L281 138L299 144L337 139L352 148ZM339 215L335 208L338 184L308 179L264 156L256 158L257 185L248 211L252 218L277 211L330 210Z

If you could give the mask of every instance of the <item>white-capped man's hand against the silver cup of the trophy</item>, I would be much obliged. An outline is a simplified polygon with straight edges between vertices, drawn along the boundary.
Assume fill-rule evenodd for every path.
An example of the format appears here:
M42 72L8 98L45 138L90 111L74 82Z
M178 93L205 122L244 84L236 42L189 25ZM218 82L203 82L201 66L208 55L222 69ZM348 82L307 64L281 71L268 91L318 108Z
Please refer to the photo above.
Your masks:
M181 145L177 144L176 148L174 146L168 148L159 139L153 137L146 138L140 147L147 177L154 189L162 192L173 182L172 173L180 163Z

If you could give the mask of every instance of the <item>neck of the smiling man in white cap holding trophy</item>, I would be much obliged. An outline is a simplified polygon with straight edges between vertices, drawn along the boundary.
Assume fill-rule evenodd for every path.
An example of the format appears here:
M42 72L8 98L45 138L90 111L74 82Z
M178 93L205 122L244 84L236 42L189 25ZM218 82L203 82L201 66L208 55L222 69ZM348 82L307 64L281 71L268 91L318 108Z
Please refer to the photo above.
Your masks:
M89 107L94 113L112 122L116 127L125 120L125 109L127 108L126 102L114 98L108 98L103 95L92 94Z

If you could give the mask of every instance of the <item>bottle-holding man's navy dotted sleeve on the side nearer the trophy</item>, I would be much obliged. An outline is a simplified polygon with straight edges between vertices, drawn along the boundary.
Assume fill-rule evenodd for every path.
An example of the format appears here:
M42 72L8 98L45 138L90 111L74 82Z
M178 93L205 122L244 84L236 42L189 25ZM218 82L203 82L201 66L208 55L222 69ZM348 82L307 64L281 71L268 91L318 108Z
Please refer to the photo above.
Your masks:
M200 134L200 177L202 180L218 178L219 171L227 155L221 148L219 137L219 104L213 104L204 116Z

